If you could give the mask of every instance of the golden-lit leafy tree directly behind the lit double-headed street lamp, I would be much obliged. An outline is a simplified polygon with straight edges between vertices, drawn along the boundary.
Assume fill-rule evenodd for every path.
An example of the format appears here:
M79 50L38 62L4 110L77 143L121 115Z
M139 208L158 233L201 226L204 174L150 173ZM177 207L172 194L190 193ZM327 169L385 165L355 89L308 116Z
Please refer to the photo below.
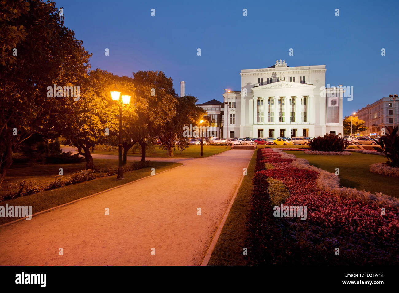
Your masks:
M119 143L120 112L119 107L112 102L110 92L118 87L122 94L134 96L135 88L131 82L100 69L90 72L86 86L90 89L88 95L75 105L73 114L64 115L63 119L59 120L59 128L66 138L66 144L77 147L78 153L85 157L86 169L95 169L90 148L109 140L108 134L117 138ZM130 137L126 138L126 131L123 130L130 126L131 120L134 119L131 103L132 99L129 105L122 109L122 116L126 116L122 119L122 138L125 143L131 140ZM127 147L127 144L125 146Z

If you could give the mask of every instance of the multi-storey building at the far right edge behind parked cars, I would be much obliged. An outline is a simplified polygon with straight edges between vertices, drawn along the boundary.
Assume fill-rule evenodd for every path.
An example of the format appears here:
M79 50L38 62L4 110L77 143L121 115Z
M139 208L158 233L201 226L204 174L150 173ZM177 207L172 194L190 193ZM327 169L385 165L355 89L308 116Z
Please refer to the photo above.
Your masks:
M358 110L356 116L364 120L364 126L367 127L367 130L361 132L360 135L374 138L381 135L381 129L385 126L398 126L398 104L398 100L394 101L392 97L383 97L373 104L367 104L367 106Z

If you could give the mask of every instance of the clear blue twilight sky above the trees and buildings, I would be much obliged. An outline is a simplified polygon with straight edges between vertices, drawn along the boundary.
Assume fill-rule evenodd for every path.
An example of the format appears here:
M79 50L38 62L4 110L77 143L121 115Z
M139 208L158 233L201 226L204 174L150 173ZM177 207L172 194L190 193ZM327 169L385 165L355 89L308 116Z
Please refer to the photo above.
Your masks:
M269 67L277 59L288 66L326 65L326 84L353 86L344 116L399 93L397 0L55 2L64 9L65 26L93 53L92 69L130 77L160 70L177 93L186 81L186 94L199 102L221 101L224 88L240 90L241 69Z

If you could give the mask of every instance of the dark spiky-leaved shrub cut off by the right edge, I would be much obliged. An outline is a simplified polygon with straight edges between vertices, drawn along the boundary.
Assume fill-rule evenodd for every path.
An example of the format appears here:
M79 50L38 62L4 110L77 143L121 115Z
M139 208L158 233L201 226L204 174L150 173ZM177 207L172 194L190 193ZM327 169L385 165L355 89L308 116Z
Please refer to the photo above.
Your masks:
M379 145L381 147L373 148L380 153L383 153L385 157L388 159L388 165L392 167L399 167L399 135L398 126L395 128L391 126L385 126L389 133L385 136L381 136L379 139Z

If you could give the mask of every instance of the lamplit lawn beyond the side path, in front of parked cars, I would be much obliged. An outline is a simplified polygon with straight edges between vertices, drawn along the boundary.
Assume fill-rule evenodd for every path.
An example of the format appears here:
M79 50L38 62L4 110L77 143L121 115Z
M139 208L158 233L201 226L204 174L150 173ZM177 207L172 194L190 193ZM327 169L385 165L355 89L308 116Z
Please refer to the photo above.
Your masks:
M163 149L158 148L159 146L155 146L155 153L154 150L150 153L146 153L146 157L169 157L168 152L164 151ZM216 155L217 153L221 153L223 151L228 151L230 146L226 148L226 146L203 146L203 156L209 157L211 155ZM117 151L94 151L94 154L100 155L118 155ZM178 151L177 147L176 150L173 151L174 157L176 158L198 158L201 156L201 146L190 146L182 151ZM128 156L136 156L141 157L141 153L128 153Z

